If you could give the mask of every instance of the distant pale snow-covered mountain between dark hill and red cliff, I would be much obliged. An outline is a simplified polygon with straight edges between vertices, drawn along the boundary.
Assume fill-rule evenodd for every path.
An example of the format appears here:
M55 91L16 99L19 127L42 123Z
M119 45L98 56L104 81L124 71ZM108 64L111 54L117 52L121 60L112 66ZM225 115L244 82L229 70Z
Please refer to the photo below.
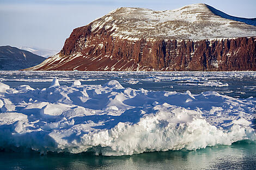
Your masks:
M41 48L36 48L36 47L26 47L23 46L20 49L29 51L33 54L39 55L39 56L44 56L45 58L48 58L49 56L55 55L59 53L59 51L52 50L52 49L41 49Z

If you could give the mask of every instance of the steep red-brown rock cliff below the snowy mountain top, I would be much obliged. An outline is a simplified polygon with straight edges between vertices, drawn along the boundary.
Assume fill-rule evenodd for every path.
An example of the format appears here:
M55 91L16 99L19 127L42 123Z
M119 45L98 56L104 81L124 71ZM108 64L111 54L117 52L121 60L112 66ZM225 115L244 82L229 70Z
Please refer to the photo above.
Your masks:
M256 71L256 37L134 41L112 36L111 28L90 29L74 29L60 51L63 60L34 70Z

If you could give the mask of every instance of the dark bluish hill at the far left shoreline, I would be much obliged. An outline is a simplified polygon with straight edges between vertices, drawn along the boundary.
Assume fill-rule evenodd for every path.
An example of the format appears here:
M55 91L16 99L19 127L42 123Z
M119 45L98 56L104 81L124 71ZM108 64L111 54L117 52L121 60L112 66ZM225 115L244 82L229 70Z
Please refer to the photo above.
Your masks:
M16 47L0 46L0 70L21 70L38 65L45 59Z

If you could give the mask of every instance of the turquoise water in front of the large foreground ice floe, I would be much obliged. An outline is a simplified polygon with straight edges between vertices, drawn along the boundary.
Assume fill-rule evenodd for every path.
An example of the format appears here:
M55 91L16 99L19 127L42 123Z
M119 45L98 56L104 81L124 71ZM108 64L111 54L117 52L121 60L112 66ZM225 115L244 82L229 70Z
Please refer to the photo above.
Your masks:
M0 169L255 169L256 144L143 153L132 156L0 152Z

